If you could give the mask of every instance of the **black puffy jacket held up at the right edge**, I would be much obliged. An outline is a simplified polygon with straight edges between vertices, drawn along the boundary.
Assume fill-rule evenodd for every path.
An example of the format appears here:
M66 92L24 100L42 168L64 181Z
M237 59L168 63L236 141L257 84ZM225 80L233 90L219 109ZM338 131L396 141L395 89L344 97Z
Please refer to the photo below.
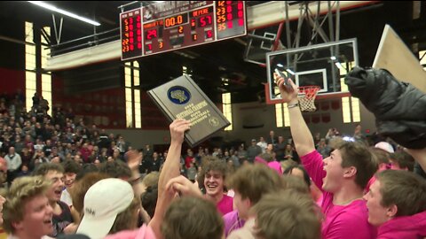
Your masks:
M384 69L355 67L344 82L351 95L375 114L381 135L409 149L426 148L426 95L422 91Z

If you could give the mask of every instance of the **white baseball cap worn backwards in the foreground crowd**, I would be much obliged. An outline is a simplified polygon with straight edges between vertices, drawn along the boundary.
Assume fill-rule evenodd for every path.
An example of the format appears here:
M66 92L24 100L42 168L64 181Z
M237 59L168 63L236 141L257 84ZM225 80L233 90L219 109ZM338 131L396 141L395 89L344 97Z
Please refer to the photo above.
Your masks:
M128 208L134 192L127 181L104 179L93 184L84 196L84 216L77 232L91 239L108 235L117 214Z

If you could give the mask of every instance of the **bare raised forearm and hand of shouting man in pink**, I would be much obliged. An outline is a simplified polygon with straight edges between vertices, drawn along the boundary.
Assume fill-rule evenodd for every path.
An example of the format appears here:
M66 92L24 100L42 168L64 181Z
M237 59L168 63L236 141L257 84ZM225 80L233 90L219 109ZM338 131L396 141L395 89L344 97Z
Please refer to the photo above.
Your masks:
M304 122L304 117L298 107L297 86L291 79L288 79L288 83L291 85L292 89L285 87L284 79L276 73L274 73L274 78L280 89L282 102L288 104L291 136L295 142L297 154L302 157L315 150L315 144L313 143L311 131Z

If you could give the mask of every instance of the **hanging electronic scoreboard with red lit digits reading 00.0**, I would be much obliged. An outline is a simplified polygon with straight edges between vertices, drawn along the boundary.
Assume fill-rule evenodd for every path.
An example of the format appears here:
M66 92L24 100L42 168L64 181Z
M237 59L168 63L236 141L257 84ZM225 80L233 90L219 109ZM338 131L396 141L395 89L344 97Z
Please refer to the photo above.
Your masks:
M120 14L122 60L247 35L244 1L164 1Z

